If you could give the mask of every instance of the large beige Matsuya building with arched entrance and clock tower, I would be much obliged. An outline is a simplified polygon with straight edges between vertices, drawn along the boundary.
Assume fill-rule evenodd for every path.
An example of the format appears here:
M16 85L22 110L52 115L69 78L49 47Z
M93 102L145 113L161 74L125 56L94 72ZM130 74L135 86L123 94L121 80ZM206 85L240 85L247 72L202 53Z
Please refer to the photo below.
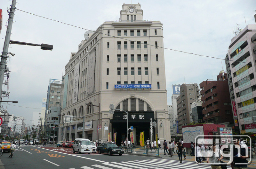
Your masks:
M109 113L109 105L128 111L128 126L150 137L150 118L156 122L153 139L170 140L164 67L163 27L160 21L143 20L140 4L123 4L118 21L104 22L95 32L85 32L78 51L65 66L64 97L58 140L84 138L105 142L117 133L126 137L126 113ZM87 106L93 104L96 106ZM78 116L63 123L66 115ZM100 124L102 127L97 130ZM104 130L104 126L108 130ZM105 133L105 134L104 134ZM130 131L129 131L130 139Z

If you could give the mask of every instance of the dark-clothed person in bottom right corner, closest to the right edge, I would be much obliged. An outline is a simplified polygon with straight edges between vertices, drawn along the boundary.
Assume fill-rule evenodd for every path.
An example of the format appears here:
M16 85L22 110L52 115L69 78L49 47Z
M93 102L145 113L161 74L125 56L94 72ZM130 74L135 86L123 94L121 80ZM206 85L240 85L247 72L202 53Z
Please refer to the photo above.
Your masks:
M249 156L246 156L246 147L244 147L243 144L239 145L239 140L236 138L234 138L233 143L235 144L234 151L233 151L234 158L233 158L233 161L231 162L231 168L233 168L233 169L240 169L240 168L248 169L248 165L247 165L248 161L246 158L249 158ZM247 149L248 149L248 147L247 147ZM241 163L244 163L244 164L241 164Z

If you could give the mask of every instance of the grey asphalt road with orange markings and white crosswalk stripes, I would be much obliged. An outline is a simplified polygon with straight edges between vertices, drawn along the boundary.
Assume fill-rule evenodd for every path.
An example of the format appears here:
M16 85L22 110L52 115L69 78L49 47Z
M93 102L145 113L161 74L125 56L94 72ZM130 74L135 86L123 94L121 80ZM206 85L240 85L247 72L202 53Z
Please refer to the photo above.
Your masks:
M61 148L56 146L17 146L13 158L9 153L4 153L0 157L6 169L15 168L65 168L65 169L114 169L114 168L169 168L169 169L192 169L192 168L211 168L209 165L197 165L195 162L183 161L182 164L177 160L151 158L136 155L111 155L91 153L73 154L71 148ZM231 167L228 167L231 168Z

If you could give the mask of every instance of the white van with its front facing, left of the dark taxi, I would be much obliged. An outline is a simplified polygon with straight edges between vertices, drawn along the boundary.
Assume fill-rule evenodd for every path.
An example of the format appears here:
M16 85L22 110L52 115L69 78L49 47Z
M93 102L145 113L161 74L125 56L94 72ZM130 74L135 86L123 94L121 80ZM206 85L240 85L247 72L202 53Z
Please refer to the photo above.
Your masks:
M88 153L92 152L91 141L85 138L76 138L73 144L73 153Z

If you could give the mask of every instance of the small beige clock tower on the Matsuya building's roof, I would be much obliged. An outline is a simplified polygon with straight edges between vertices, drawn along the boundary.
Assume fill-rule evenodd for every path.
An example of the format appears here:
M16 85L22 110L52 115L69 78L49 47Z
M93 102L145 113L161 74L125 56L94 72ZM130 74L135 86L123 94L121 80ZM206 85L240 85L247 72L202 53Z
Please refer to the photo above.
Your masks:
M123 4L123 10L120 11L121 21L137 21L142 20L143 10L139 4Z

